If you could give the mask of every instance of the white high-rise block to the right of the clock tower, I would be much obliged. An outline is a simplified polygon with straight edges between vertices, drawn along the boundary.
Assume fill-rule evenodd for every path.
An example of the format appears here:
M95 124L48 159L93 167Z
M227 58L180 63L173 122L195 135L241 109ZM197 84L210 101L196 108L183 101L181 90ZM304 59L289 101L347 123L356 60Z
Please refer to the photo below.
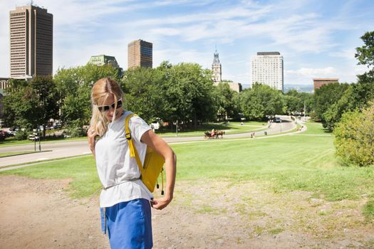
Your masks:
M279 52L258 52L251 57L251 84L261 83L284 90L283 56Z

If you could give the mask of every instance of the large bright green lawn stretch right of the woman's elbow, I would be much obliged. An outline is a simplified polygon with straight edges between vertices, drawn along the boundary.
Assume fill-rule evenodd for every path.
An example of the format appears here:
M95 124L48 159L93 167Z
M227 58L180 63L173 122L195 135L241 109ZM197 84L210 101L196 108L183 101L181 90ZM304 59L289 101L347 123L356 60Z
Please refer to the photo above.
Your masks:
M315 133L318 126L308 124L305 134ZM275 192L312 191L330 201L374 193L374 167L339 166L332 136L300 134L176 144L173 148L178 155L178 179L229 179L233 183L261 181Z

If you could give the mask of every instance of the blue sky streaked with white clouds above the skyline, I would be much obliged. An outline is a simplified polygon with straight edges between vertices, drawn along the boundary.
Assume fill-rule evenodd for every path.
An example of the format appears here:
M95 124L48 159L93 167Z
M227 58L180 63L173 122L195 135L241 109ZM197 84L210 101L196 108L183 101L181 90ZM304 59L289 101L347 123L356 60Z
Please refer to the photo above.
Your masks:
M35 0L53 14L53 70L113 55L127 68L128 43L153 43L153 66L194 62L211 68L217 46L222 78L250 83L250 58L284 56L284 83L312 78L355 82L365 72L355 48L374 31L374 1ZM0 77L9 77L9 11L30 3L0 1Z

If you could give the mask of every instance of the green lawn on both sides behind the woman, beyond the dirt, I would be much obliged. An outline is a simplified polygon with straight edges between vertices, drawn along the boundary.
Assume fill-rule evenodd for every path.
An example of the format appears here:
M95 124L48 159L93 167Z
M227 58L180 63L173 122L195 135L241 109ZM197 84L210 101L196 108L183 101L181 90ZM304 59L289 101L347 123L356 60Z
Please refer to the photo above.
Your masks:
M333 136L321 124L308 123L307 132L266 139L217 140L173 144L178 158L177 179L191 181L254 181L274 193L310 191L326 201L374 199L374 167L340 166ZM321 134L323 136L321 136ZM74 197L90 196L100 188L92 157L51 161L4 171L46 179L73 179ZM373 202L366 213L373 213Z

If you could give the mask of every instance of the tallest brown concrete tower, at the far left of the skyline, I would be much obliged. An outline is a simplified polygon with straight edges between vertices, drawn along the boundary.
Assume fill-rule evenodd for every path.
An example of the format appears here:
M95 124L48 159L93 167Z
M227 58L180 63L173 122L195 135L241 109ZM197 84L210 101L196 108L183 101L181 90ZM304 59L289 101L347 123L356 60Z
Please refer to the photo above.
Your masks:
M28 5L9 12L11 78L52 75L53 15Z

